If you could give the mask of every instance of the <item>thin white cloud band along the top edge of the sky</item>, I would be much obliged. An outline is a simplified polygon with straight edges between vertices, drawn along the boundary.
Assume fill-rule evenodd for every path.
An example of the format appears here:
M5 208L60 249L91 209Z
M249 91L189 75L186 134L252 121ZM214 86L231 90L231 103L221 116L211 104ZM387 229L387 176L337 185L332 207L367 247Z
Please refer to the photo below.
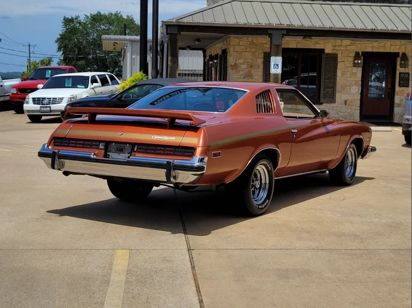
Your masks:
M71 0L70 6L65 6L66 1L63 0L42 0L42 1L27 1L13 0L1 3L2 16L34 16L44 14L90 14L96 11L120 11L123 15L134 15L135 19L139 19L140 2L121 2L118 0L100 0L96 6L95 1ZM58 5L62 4L62 5ZM152 11L152 3L148 3L149 13ZM159 14L181 15L201 7L206 6L206 0L159 0ZM161 16L159 16L161 19Z

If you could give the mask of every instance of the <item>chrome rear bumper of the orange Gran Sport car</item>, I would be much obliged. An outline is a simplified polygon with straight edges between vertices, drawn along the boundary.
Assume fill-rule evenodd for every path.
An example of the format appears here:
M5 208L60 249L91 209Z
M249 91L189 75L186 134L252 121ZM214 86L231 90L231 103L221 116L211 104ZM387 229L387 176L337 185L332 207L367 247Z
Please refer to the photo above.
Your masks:
M207 163L207 156L194 156L190 160L139 156L100 158L89 152L49 149L46 144L38 156L55 170L176 184L196 184L206 172Z

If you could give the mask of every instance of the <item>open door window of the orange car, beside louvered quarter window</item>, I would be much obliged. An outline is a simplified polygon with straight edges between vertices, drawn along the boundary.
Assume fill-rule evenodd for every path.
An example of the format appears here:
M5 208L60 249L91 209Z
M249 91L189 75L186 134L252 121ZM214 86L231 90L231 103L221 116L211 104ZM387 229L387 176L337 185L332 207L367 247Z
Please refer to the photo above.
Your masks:
M282 112L286 119L308 119L317 118L313 106L308 106L299 92L295 90L276 89L281 105L283 105Z

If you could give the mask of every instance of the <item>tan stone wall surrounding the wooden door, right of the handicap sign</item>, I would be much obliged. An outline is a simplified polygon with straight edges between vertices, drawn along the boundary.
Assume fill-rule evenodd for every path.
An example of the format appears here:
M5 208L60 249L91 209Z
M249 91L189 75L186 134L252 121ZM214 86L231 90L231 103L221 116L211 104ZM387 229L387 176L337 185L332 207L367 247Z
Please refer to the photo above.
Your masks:
M341 40L341 39L299 39L284 37L282 48L319 48L325 53L338 55L336 103L323 104L319 108L327 109L331 117L343 120L359 121L360 92L362 88L362 68L353 67L355 52L406 52L411 59L411 41L383 41L383 40ZM398 58L395 87L394 121L402 122L406 93L411 92L411 80L409 87L398 87L399 72L410 72L399 67Z

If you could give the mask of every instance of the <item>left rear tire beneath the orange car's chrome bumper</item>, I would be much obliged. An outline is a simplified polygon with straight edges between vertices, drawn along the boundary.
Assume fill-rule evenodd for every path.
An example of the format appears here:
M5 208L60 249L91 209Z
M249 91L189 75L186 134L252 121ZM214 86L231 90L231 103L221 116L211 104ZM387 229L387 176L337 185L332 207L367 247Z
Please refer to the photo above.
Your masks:
M139 199L146 199L153 189L153 185L150 183L131 180L123 182L107 180L107 186L117 199L133 203Z

